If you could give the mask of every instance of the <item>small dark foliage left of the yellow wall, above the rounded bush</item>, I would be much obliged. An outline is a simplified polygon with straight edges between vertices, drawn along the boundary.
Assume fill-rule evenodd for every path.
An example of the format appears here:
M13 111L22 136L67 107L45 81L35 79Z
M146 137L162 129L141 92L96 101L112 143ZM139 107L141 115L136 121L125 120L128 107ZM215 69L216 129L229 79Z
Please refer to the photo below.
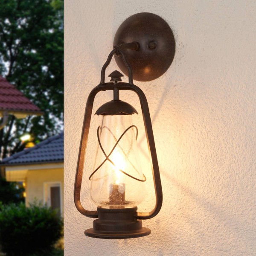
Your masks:
M24 202L24 188L16 182L8 182L0 177L0 203L11 204Z

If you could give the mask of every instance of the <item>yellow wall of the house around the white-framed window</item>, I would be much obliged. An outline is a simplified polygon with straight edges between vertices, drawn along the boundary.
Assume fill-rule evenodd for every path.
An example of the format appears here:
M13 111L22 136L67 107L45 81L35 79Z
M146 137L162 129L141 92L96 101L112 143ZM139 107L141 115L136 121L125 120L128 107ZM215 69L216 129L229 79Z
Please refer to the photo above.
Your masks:
M63 168L60 169L42 169L29 170L26 176L26 206L35 200L44 203L44 183L61 183L61 212L63 212L64 198L64 175Z

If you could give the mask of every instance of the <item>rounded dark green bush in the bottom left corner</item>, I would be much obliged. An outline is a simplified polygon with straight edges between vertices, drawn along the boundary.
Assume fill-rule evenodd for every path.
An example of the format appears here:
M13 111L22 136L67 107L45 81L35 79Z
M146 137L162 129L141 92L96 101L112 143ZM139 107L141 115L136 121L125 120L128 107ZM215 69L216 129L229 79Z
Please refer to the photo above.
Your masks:
M0 244L7 256L50 252L62 229L57 212L41 204L0 205Z

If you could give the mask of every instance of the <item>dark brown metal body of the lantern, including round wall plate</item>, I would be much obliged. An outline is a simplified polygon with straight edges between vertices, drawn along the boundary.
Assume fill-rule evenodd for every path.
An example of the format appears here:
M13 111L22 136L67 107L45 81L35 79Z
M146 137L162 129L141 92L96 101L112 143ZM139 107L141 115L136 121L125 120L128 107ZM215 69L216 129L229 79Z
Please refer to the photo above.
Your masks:
M87 99L74 186L76 208L87 217L98 218L93 221L93 228L85 230L85 235L103 239L147 236L151 233L151 230L142 227L141 220L153 218L161 209L163 193L148 102L143 91L133 83L133 71L134 78L137 81L151 81L166 72L175 55L175 38L172 29L161 17L147 12L138 13L126 19L116 32L114 45L114 49L108 55L108 59L102 67L101 81L99 85L93 88ZM105 71L113 55L115 55L116 64L122 72L128 75L128 83L121 82L120 77L122 74L118 71L111 73L113 76L110 75L113 82L105 83ZM156 198L154 209L150 212L138 212L137 207L122 209L97 207L96 211L92 211L85 209L81 204L81 183L93 102L96 94L105 90L113 90L114 100L119 100L119 90L133 91L140 99L145 135L149 154L151 155L151 169ZM108 111L109 108L112 110L112 105L106 104L108 105ZM117 103L116 101L115 104L122 104L122 109L128 111L129 114L134 112L134 108L128 106L129 104L126 102ZM124 105L126 106L125 108ZM108 114L111 114L111 112L113 111L109 111Z

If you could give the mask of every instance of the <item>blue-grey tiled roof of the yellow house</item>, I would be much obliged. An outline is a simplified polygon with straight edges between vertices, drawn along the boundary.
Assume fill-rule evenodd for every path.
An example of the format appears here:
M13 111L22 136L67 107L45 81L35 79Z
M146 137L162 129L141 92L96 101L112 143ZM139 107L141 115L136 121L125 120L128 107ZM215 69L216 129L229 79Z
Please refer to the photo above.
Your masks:
M58 134L35 145L32 148L4 158L0 165L23 165L37 163L56 163L64 161L64 134Z

